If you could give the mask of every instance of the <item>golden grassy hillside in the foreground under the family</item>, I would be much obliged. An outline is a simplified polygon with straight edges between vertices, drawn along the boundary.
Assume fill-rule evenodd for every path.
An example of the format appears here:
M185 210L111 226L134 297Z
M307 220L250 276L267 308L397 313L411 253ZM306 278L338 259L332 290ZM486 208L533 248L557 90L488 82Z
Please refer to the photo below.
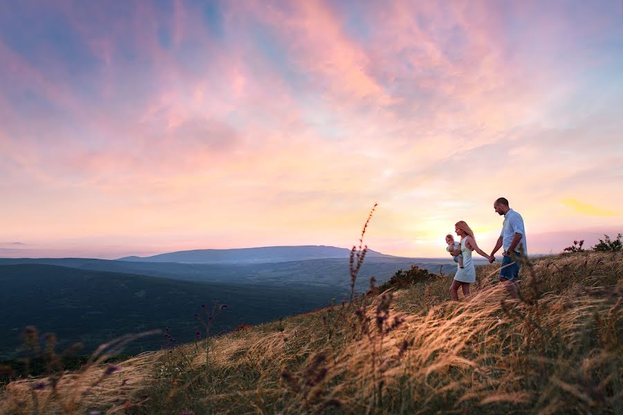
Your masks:
M522 299L478 269L255 326L119 367L12 382L4 413L610 414L622 411L623 255L543 257ZM119 369L116 371L116 369ZM112 373L111 373L112 372ZM38 385L38 386L37 386ZM33 390L31 389L40 389ZM2 399L3 398L3 399Z

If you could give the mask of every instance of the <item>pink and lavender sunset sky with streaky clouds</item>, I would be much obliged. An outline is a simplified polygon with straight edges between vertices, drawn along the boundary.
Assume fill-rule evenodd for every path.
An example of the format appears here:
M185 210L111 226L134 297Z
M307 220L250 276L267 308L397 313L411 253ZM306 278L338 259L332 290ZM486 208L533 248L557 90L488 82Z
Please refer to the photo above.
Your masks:
M2 1L0 257L623 232L608 1Z

